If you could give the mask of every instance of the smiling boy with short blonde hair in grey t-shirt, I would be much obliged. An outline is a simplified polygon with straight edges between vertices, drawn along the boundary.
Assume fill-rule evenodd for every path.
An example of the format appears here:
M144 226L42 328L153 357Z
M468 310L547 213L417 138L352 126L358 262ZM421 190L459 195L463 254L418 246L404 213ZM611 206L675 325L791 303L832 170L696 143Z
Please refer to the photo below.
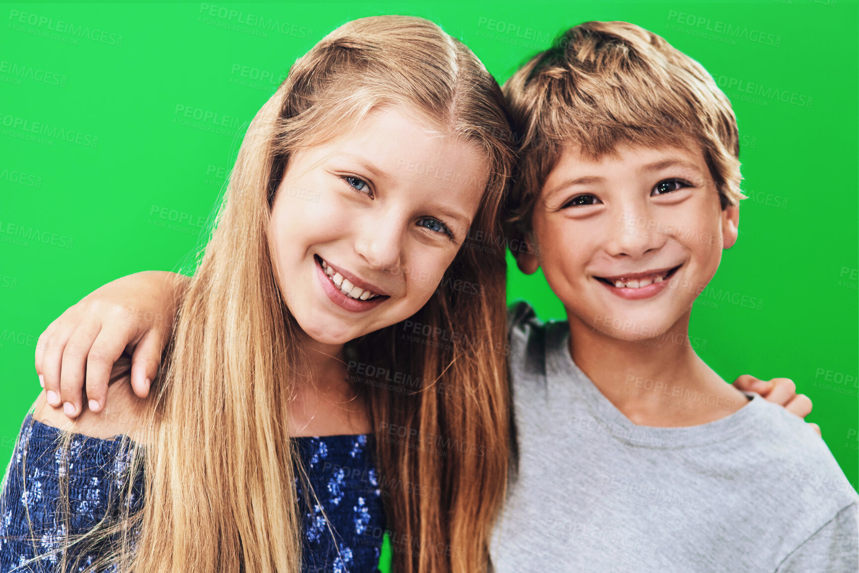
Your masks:
M510 312L519 461L506 571L856 571L856 492L800 418L695 353L692 302L737 238L739 143L704 68L587 22L505 85L511 233L568 320Z

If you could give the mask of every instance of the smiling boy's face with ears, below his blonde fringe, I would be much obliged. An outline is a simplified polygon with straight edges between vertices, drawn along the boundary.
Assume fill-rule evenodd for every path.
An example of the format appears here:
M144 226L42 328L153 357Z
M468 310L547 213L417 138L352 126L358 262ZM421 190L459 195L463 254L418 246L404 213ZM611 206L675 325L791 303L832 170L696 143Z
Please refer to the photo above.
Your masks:
M599 159L570 147L533 211L539 258L523 255L520 266L542 267L571 326L656 338L685 328L738 220L736 207L722 210L697 146L621 146Z

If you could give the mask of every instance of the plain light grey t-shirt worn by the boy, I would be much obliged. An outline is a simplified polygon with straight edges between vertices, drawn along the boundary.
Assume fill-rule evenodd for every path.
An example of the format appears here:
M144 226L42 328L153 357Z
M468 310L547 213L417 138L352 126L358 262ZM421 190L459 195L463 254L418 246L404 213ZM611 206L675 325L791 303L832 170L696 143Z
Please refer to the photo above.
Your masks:
M509 319L520 460L497 573L859 570L856 491L801 418L749 393L710 424L632 424L573 363L566 322L525 303Z

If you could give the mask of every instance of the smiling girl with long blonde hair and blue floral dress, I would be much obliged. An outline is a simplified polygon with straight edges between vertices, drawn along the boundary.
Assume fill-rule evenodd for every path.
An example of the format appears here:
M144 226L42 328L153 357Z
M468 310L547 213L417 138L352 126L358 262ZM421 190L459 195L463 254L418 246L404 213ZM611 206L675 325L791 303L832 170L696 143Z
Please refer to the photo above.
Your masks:
M507 475L505 264L462 244L498 233L505 134L497 82L430 21L320 40L247 130L153 396L113 384L69 425L36 400L0 570L375 570L386 528L394 570L484 570ZM414 344L405 324L460 336Z

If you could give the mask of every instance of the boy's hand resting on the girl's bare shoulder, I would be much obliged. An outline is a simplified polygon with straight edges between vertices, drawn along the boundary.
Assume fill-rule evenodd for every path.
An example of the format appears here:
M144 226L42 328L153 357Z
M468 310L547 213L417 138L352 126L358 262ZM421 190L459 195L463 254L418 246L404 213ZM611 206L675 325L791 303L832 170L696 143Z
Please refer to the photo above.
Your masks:
M76 418L86 381L88 408L101 411L113 364L124 354L131 357L131 388L146 398L189 280L137 272L94 290L54 320L36 344L36 373L48 404Z

